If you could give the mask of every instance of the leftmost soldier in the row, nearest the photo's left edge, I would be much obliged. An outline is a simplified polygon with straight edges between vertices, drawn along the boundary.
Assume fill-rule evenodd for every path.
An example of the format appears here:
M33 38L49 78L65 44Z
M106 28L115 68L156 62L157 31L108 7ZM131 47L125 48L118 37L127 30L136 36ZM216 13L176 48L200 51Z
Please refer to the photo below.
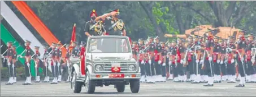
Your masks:
M12 85L14 84L14 80L15 80L14 63L12 61L12 58L14 56L14 50L12 49L12 41L8 41L7 46L8 48L7 48L6 59L7 59L7 66L9 70L9 81L6 83L6 85Z

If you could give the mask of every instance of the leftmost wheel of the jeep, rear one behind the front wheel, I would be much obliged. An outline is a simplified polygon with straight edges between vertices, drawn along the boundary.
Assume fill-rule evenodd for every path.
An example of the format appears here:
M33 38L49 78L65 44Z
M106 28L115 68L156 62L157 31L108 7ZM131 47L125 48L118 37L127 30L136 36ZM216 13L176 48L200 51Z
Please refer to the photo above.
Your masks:
M81 93L83 82L76 81L76 78L77 74L74 72L71 79L71 87L74 93Z

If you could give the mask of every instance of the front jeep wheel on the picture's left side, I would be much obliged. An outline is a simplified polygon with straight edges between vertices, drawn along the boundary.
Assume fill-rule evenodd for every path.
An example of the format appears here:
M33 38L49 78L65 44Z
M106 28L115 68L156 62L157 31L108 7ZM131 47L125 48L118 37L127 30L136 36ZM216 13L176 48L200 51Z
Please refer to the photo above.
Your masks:
M95 91L96 84L93 80L90 80L89 72L86 72L85 76L85 88L88 94L93 94Z

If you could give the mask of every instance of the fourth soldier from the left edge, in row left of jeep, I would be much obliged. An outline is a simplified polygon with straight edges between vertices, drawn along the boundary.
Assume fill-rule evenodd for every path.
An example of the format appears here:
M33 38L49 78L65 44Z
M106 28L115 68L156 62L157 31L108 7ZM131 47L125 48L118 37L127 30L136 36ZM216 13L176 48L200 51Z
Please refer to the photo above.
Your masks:
M48 49L49 47L47 46L47 45L44 45L44 57L43 57L43 71L44 71L44 75L45 75L45 79L44 79L44 81L42 81L42 82L50 82L50 77L49 77L49 75L48 75L48 66L49 66L49 63L48 63L48 61L47 61L47 57L48 57L48 55L49 55L49 52L51 52L50 51L50 49Z

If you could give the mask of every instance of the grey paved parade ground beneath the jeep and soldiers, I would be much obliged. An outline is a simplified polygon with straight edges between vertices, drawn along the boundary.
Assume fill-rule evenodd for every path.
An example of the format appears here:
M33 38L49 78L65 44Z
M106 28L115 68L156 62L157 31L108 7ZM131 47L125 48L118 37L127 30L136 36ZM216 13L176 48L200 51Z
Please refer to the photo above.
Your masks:
M51 85L49 83L33 83L21 85L18 81L14 85L5 85L1 81L1 96L255 96L256 83L246 83L245 87L235 87L236 84L222 82L213 87L203 87L203 84L175 83L167 81L157 84L141 83L137 94L131 93L129 85L124 93L118 93L114 86L96 87L94 94L86 94L83 87L81 93L75 94L69 83L61 82Z

